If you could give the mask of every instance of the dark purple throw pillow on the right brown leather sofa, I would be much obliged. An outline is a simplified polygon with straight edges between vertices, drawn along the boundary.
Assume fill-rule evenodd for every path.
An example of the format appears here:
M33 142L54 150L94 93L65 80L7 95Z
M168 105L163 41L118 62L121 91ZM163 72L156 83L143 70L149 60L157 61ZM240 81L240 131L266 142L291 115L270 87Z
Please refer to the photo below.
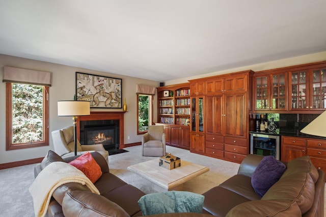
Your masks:
M286 166L277 161L274 156L265 156L251 176L251 185L255 192L260 197L264 196L268 189L281 178L285 169Z

